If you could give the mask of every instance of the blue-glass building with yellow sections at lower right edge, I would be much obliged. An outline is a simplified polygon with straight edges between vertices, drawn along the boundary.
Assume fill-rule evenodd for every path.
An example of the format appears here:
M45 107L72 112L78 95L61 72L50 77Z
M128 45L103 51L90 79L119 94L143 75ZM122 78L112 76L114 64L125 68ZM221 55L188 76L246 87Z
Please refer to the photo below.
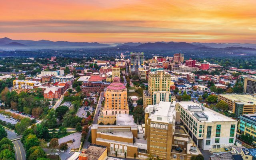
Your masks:
M244 114L239 118L238 130L244 135L252 136L254 144L256 144L256 114Z

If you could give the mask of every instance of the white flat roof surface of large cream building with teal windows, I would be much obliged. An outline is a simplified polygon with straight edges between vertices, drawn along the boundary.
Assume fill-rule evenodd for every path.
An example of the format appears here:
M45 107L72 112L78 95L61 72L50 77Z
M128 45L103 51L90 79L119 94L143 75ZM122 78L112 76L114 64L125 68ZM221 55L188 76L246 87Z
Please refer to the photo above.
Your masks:
M192 101L189 101L189 102L177 102L178 104L180 104L180 106L182 106L186 112L190 113L191 116L194 116L194 112L193 111L189 111L188 110L188 106L189 105L198 105L197 103L195 102L192 102ZM214 110L211 110L209 108L204 108L204 111L202 111L204 114L206 114L208 116L208 120L204 120L204 122L219 122L219 121L236 121L236 120L233 120L227 116L224 116L223 114L220 114L218 112L215 112ZM194 116L194 118L196 118ZM197 118L196 118L197 119Z

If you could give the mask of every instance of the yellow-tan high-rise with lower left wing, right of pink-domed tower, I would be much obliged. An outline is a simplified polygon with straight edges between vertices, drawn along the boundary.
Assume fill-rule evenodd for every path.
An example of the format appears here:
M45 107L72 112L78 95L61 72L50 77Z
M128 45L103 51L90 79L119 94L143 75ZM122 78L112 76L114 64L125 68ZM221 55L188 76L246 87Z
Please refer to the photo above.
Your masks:
M170 92L170 77L166 71L157 70L148 72L148 90L143 91L143 108L152 104L152 95L155 91Z

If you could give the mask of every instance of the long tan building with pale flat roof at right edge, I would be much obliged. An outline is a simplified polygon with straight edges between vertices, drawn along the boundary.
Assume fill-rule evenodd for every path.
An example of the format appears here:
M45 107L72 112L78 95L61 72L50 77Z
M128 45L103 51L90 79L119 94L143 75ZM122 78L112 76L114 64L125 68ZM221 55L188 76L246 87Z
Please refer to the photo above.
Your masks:
M256 112L256 96L249 94L219 94L218 101L225 101L228 108L236 118L243 114L254 114Z

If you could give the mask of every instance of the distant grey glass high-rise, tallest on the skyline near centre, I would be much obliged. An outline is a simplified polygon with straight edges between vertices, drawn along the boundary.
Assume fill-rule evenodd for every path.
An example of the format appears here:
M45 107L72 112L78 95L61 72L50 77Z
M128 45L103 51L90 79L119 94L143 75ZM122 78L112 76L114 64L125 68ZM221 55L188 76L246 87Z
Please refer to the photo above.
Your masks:
M144 65L144 53L143 52L131 52L131 72L138 72L140 68L143 68Z

